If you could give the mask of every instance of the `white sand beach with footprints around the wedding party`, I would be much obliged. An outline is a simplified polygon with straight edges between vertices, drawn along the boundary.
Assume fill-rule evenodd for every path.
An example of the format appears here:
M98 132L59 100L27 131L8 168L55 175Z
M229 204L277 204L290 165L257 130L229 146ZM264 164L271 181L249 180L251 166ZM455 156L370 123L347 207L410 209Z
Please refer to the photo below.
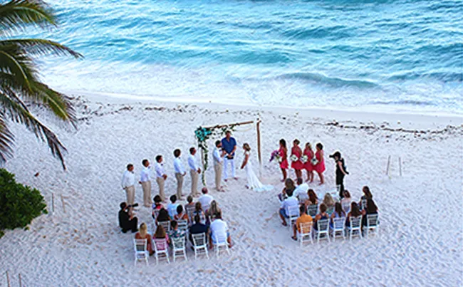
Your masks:
M46 118L68 149L66 172L48 147L20 125L14 158L6 169L36 187L55 213L35 219L29 230L6 231L0 239L0 286L462 286L463 118L452 115L369 113L367 110L265 108L214 103L163 103L103 96L76 96L78 130ZM36 110L42 114L40 109ZM172 151L196 144L199 125L260 118L262 181L272 192L253 192L232 180L215 192L231 229L231 256L134 266L133 234L118 228L125 192L120 178L129 162L135 173L144 158L164 155L167 195L175 193ZM257 166L255 128L239 127L234 137L249 142ZM379 208L379 237L303 246L291 240L278 216L283 184L275 162L278 141L322 142L326 156L340 150L350 174L345 187L358 200L368 185ZM212 150L214 140L209 144ZM385 175L391 156L390 177ZM398 159L402 160L400 177ZM237 162L241 162L242 152ZM335 187L334 163L326 157L326 184ZM40 174L35 177L34 174ZM291 171L291 177L294 177ZM316 178L317 179L317 178ZM184 193L189 193L189 176ZM157 192L155 183L153 196ZM142 203L137 184L136 201ZM65 209L61 202L65 203ZM140 204L142 205L142 204ZM150 209L139 207L139 222L151 226Z

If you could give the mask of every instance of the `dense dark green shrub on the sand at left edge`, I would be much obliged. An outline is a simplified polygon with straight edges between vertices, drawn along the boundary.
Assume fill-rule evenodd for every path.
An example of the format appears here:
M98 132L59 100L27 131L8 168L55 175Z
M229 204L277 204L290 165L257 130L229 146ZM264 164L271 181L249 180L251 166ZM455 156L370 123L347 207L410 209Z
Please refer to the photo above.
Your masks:
M0 237L5 229L27 229L32 219L48 213L37 189L19 184L14 174L0 169Z

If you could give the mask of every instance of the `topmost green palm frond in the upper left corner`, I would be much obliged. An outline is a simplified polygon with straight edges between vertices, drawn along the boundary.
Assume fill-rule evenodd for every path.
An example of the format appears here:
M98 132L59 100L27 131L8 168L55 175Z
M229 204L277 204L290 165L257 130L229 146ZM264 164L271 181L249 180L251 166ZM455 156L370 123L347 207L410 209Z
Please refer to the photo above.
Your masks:
M41 0L11 0L0 5L0 33L24 30L26 26L56 25L51 9ZM3 30L3 31L2 31Z

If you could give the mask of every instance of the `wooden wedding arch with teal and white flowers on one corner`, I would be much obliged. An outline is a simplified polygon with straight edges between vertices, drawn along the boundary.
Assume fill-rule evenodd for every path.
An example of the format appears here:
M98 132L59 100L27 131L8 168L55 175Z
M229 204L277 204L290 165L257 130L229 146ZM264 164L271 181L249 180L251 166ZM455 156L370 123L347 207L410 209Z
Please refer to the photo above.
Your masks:
M261 120L248 120L246 122L233 122L228 124L213 125L209 127L198 127L194 131L194 135L198 141L199 150L201 150L201 162L202 162L202 184L206 185L206 171L209 167L209 146L207 140L212 138L223 137L227 130L234 132L236 127L243 125L256 125L257 134L257 155L259 157L259 167L262 165L261 157Z

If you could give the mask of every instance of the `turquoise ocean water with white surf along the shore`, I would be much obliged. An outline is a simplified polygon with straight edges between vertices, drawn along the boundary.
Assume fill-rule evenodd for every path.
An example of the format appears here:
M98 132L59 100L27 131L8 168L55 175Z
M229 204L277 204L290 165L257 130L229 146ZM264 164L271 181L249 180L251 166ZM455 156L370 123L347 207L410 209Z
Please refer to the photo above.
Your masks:
M461 0L48 1L64 91L463 113Z

